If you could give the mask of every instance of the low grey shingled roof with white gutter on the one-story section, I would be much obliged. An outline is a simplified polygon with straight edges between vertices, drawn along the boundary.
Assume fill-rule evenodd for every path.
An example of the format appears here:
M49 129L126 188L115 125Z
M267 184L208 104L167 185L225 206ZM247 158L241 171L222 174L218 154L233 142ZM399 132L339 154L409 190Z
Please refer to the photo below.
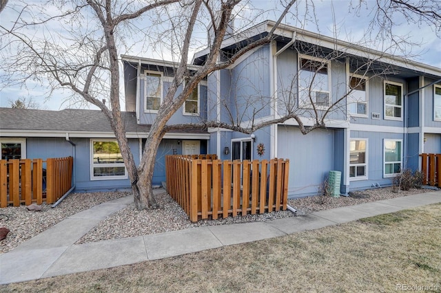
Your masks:
M150 124L137 124L134 112L121 112L128 138L144 138ZM46 111L0 107L0 136L113 138L110 123L101 110ZM165 138L207 139L207 131L173 131Z

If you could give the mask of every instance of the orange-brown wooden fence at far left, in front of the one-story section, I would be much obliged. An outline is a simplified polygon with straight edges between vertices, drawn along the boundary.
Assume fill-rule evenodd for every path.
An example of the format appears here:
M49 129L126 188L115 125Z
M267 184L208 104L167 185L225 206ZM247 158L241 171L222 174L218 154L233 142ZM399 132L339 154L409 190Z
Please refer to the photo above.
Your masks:
M0 207L57 202L72 187L73 164L72 157L0 160Z

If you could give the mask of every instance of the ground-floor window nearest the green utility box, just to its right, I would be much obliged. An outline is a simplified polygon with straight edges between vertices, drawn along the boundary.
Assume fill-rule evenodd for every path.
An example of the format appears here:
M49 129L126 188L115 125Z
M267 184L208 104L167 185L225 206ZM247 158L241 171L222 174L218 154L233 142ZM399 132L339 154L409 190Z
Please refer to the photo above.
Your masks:
M351 140L349 144L349 177L367 179L367 140Z

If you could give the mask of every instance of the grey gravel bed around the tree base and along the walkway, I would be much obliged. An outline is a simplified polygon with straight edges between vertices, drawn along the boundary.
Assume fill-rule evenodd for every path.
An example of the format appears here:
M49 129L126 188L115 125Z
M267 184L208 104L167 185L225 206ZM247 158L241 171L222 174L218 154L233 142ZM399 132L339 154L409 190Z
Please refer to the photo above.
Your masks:
M362 191L362 193L356 193L358 198L305 197L302 199L290 199L288 204L305 213L311 213L317 210L362 204L427 191L431 190L413 189L411 191L393 193L391 188L376 188L369 191ZM74 213L79 213L81 210L85 210L96 204L130 195L130 192L72 193L56 208L51 208L50 205L46 204L41 205L42 210L39 212L30 212L25 206L1 208L0 227L6 227L10 232L6 239L0 241L0 253L12 250L17 247L19 243L39 234ZM249 221L269 221L271 219L295 216L294 213L286 210L263 215L228 217L227 219L203 220L192 223L189 221L183 209L174 202L170 195L161 193L156 195L156 199L159 204L158 209L139 211L134 208L134 204L129 204L126 208L101 221L76 243L134 237L199 226L234 224Z

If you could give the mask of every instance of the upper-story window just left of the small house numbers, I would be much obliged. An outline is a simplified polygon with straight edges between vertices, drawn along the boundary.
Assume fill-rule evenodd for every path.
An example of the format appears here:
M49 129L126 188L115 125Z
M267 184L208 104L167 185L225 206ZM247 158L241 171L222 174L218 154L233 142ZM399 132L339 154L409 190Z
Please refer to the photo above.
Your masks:
M351 93L347 97L347 104L351 116L367 117L368 85L367 78L356 74L349 77Z

